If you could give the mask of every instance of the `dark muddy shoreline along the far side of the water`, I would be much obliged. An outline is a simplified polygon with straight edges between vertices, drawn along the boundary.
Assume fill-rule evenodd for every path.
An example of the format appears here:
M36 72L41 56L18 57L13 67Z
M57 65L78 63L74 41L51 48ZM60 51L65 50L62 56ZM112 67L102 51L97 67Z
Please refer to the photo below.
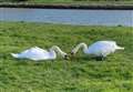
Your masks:
M133 10L133 4L0 3L0 8Z

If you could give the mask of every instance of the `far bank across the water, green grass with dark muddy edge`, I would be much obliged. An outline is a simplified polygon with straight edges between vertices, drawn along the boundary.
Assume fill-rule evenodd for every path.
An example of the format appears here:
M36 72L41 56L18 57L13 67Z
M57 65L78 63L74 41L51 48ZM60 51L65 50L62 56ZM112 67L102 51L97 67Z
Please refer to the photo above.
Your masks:
M133 0L0 0L0 8L133 10Z

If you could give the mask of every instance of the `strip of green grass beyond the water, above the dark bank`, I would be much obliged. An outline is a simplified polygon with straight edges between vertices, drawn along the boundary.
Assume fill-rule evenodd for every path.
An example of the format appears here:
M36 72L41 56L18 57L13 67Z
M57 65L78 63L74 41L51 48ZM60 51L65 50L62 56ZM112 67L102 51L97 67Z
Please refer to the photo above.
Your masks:
M72 4L131 4L133 0L0 0L0 2L29 2L29 3L72 3Z

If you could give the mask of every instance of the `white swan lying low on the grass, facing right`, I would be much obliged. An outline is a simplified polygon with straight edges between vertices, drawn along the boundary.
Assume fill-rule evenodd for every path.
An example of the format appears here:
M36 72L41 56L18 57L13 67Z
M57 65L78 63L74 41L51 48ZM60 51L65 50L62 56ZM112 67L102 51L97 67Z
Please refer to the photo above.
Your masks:
M64 59L68 59L68 54L63 52L59 47L53 45L50 48L50 50L43 50L38 47L33 47L31 49L24 50L20 53L11 53L13 58L17 59L30 59L33 61L39 61L39 60L54 60L57 59L57 53L58 52L60 55L62 55Z

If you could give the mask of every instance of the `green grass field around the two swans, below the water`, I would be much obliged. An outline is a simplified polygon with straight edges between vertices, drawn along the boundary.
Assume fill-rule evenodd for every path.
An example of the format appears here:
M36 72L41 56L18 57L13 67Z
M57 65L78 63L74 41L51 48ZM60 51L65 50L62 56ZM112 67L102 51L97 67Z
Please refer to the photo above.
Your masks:
M104 61L81 51L72 60L17 60L11 52L57 44L65 52L80 43L114 40L125 48ZM133 92L133 29L0 22L1 92Z

